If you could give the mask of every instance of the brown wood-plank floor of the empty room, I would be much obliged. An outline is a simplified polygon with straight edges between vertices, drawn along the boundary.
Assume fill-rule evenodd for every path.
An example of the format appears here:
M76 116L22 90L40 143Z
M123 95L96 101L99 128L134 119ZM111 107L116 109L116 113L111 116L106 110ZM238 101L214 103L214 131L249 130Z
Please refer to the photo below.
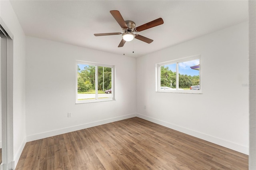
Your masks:
M27 142L16 170L247 170L248 156L138 117Z

